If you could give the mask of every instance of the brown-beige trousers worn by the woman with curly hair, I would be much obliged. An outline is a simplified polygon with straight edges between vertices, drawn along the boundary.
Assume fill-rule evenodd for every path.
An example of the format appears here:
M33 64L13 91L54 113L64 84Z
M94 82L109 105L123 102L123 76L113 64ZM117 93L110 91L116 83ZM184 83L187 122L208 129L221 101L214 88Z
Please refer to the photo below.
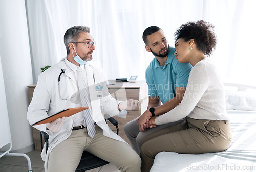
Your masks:
M181 124L159 130L144 138L140 151L141 171L150 171L154 158L159 152L181 154L220 152L228 148L231 137L228 121L186 117L186 121Z

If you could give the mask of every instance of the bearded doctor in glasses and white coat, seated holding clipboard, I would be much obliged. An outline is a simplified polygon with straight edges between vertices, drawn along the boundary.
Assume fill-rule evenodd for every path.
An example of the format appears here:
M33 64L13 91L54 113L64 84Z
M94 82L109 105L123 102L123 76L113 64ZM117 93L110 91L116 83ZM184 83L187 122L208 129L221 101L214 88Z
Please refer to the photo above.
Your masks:
M67 57L39 75L27 118L32 125L66 108L89 109L34 126L50 136L47 154L46 146L41 153L45 171L75 171L84 150L115 164L121 171L140 171L138 154L111 131L101 114L102 110L126 117L126 110L133 110L140 103L113 99L105 86L104 72L88 64L96 43L89 27L69 28L64 43Z

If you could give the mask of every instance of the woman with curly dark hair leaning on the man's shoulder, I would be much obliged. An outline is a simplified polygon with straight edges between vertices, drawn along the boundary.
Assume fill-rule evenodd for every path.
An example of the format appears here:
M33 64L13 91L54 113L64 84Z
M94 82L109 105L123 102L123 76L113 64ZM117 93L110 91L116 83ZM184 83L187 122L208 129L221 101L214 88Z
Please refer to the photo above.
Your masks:
M190 63L187 88L181 103L167 113L155 108L151 127L185 118L181 124L147 136L140 152L141 171L150 171L159 152L202 154L226 150L231 129L225 106L224 86L209 57L216 47L214 26L200 20L187 22L175 32L175 55L180 63Z

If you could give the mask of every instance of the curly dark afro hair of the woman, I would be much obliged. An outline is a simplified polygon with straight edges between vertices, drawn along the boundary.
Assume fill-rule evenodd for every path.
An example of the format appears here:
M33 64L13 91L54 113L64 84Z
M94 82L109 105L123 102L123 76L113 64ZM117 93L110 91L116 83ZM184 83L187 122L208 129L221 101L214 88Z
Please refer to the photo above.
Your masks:
M198 50L202 51L204 55L210 56L212 51L216 48L217 38L213 32L214 26L204 20L197 22L187 22L182 24L177 31L174 32L175 41L177 39L184 39L186 42L194 39Z

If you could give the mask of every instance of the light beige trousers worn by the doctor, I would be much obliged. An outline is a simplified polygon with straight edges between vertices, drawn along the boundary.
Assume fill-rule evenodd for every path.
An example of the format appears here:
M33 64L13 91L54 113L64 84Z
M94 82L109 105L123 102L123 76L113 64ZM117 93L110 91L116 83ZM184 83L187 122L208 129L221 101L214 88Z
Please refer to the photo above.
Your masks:
M50 153L48 172L75 171L84 150L115 164L121 171L140 171L141 159L129 144L104 136L98 125L95 129L93 139L86 128L72 131L71 136Z

